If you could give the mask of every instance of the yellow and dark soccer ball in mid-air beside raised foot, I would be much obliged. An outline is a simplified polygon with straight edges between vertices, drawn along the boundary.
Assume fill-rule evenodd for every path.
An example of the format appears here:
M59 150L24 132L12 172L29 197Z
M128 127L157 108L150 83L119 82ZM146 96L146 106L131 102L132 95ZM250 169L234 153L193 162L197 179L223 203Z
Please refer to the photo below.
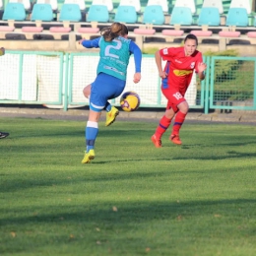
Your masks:
M135 92L126 92L120 98L120 105L126 112L135 111L141 103L140 96Z

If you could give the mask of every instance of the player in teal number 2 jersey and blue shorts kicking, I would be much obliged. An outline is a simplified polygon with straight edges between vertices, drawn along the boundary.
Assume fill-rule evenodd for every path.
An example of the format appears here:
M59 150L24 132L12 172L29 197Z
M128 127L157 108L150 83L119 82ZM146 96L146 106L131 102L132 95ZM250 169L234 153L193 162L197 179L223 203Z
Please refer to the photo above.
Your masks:
M103 109L107 111L106 126L118 115L118 109L107 101L120 96L126 85L127 66L131 54L134 54L134 83L141 80L142 52L139 46L127 38L128 29L120 23L113 23L101 31L101 36L93 40L80 40L86 48L99 47L99 62L96 69L96 80L84 89L84 95L90 98L90 111L86 127L85 157L82 163L95 159L95 143L98 132L98 118Z

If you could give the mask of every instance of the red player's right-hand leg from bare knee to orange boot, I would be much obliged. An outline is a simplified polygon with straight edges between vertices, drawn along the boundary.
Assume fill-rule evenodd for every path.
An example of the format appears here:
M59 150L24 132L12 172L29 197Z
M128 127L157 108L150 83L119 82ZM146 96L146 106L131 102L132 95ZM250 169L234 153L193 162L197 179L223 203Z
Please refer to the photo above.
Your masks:
M184 98L184 100L182 102L180 102L177 105L178 111L175 115L175 119L174 119L174 123L173 123L173 127L172 127L172 132L170 135L170 141L172 141L174 144L177 145L181 145L182 142L179 138L179 131L181 129L182 124L185 121L189 106L188 103L186 101L186 99Z

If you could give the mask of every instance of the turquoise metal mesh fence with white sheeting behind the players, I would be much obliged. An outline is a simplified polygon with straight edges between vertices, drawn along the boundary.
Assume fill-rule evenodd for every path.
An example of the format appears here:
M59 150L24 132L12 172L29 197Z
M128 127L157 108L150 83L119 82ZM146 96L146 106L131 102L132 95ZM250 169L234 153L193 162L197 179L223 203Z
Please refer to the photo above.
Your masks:
M15 52L0 57L0 103L45 104L68 110L88 105L82 94L96 77L97 53ZM186 99L190 108L255 110L256 58L205 57L206 79L194 74ZM160 77L153 55L144 55L142 81L135 85L133 57L125 91L136 91L143 107L165 107ZM111 101L119 105L119 97Z

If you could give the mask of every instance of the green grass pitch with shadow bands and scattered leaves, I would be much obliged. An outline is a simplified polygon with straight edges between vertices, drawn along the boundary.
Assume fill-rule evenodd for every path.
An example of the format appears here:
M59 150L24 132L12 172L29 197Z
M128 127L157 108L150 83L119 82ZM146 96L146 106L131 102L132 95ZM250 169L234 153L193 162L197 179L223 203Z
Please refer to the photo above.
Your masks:
M0 255L255 255L256 126L0 121Z

